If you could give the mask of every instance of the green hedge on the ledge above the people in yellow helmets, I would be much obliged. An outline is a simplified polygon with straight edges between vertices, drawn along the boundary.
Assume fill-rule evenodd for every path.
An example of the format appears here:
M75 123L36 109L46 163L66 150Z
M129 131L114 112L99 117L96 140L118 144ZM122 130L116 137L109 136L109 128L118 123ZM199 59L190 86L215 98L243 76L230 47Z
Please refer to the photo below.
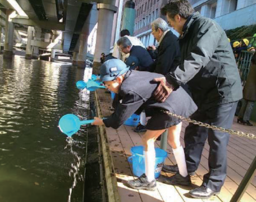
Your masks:
M230 41L252 37L255 33L256 33L256 24L226 30L226 34L230 39Z

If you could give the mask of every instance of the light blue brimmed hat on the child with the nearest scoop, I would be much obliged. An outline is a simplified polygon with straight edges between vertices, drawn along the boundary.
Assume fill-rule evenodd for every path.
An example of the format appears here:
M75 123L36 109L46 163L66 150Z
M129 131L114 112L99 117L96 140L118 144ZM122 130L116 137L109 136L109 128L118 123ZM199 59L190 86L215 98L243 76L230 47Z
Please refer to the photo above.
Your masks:
M120 59L110 59L100 67L100 81L112 81L129 70L129 66Z

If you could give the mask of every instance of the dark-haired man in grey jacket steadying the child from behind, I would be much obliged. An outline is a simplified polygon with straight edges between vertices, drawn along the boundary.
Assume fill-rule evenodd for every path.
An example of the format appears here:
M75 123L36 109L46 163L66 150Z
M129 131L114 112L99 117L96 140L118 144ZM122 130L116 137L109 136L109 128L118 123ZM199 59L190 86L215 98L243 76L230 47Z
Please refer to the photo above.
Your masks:
M202 17L187 0L171 0L162 9L169 24L180 33L181 63L165 77L157 78L154 93L163 102L182 83L188 83L197 112L190 118L230 129L237 101L242 98L240 76L227 36L214 20ZM189 124L185 130L185 157L188 172L197 170L206 139L210 146L209 172L200 187L190 190L195 198L209 198L220 192L227 175L229 135ZM177 171L176 166L165 170ZM166 183L183 182L176 175Z

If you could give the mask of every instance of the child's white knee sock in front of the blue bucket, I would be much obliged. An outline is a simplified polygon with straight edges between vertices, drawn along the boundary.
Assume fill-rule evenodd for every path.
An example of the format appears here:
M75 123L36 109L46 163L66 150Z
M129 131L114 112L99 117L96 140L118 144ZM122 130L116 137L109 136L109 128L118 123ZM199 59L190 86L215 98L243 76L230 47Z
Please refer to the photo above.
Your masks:
M156 150L154 142L152 145L145 151L145 174L149 182L155 179Z

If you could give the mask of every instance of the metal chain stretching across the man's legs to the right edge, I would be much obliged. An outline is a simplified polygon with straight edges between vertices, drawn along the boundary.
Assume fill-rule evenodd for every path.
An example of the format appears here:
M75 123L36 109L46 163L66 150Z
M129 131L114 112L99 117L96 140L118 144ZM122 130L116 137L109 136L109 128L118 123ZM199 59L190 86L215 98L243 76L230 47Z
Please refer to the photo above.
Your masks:
M171 115L173 117L176 117L178 119L181 119L183 121L187 121L189 123L196 124L196 125L199 125L199 126L204 126L204 127L216 130L216 131L228 132L229 134L232 134L232 135L238 135L238 136L248 137L248 138L252 138L252 139L256 138L256 136L254 134L251 134L251 133L244 133L244 132L240 132L240 131L234 131L234 130L231 130L231 129L225 129L223 127L211 126L209 124L206 124L206 123L203 123L203 122L200 122L200 121L191 120L190 118L185 118L185 117L182 117L182 116L177 115L177 114L173 114L173 113L168 112L168 111L163 110L163 112L168 114L168 115Z

